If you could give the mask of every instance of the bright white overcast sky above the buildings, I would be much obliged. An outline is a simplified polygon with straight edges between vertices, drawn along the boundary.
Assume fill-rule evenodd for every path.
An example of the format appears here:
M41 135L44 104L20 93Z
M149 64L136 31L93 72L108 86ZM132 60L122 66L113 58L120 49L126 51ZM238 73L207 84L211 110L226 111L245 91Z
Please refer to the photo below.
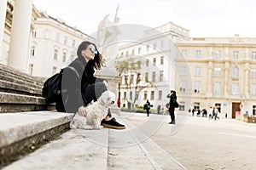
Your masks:
M38 10L90 35L116 9L119 24L156 27L173 22L190 37L256 37L255 0L33 0Z

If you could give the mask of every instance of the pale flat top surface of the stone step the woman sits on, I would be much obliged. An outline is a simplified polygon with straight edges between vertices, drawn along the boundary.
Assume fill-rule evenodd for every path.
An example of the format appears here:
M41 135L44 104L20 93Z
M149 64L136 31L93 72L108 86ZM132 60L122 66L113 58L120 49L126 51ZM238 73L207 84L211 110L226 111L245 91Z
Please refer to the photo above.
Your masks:
M73 114L28 111L0 114L0 148L70 122Z

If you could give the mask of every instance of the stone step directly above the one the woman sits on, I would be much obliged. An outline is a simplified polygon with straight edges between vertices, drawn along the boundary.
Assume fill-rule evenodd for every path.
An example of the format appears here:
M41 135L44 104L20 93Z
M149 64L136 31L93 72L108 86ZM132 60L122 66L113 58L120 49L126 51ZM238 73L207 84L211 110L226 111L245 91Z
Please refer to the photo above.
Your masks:
M0 113L49 110L55 105L46 105L43 97L0 92Z

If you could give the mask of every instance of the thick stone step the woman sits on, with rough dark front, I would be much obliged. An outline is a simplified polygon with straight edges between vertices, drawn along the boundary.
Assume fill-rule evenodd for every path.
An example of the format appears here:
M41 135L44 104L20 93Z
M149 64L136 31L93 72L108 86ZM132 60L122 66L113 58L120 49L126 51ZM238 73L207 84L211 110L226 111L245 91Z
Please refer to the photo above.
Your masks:
M66 132L72 118L73 114L55 111L1 114L0 168Z

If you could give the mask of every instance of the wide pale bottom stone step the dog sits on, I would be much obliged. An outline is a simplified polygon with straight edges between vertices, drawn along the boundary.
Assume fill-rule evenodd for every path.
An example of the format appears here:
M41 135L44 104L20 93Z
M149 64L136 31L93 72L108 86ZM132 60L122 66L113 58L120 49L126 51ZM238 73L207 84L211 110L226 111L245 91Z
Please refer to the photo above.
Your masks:
M72 129L3 169L186 169L128 119L116 118L125 130Z

